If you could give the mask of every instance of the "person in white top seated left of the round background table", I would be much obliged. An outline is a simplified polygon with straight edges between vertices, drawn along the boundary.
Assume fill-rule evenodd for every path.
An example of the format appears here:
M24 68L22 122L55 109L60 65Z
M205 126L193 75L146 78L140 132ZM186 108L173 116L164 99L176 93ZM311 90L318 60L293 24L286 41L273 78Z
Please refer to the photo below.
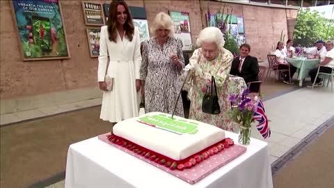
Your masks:
M290 79L294 76L294 72L296 72L297 68L287 63L287 54L283 50L283 42L278 42L276 47L276 62L278 63L278 70L287 70L290 68L290 75L288 71L282 72L283 83L285 84L293 84L290 82Z

